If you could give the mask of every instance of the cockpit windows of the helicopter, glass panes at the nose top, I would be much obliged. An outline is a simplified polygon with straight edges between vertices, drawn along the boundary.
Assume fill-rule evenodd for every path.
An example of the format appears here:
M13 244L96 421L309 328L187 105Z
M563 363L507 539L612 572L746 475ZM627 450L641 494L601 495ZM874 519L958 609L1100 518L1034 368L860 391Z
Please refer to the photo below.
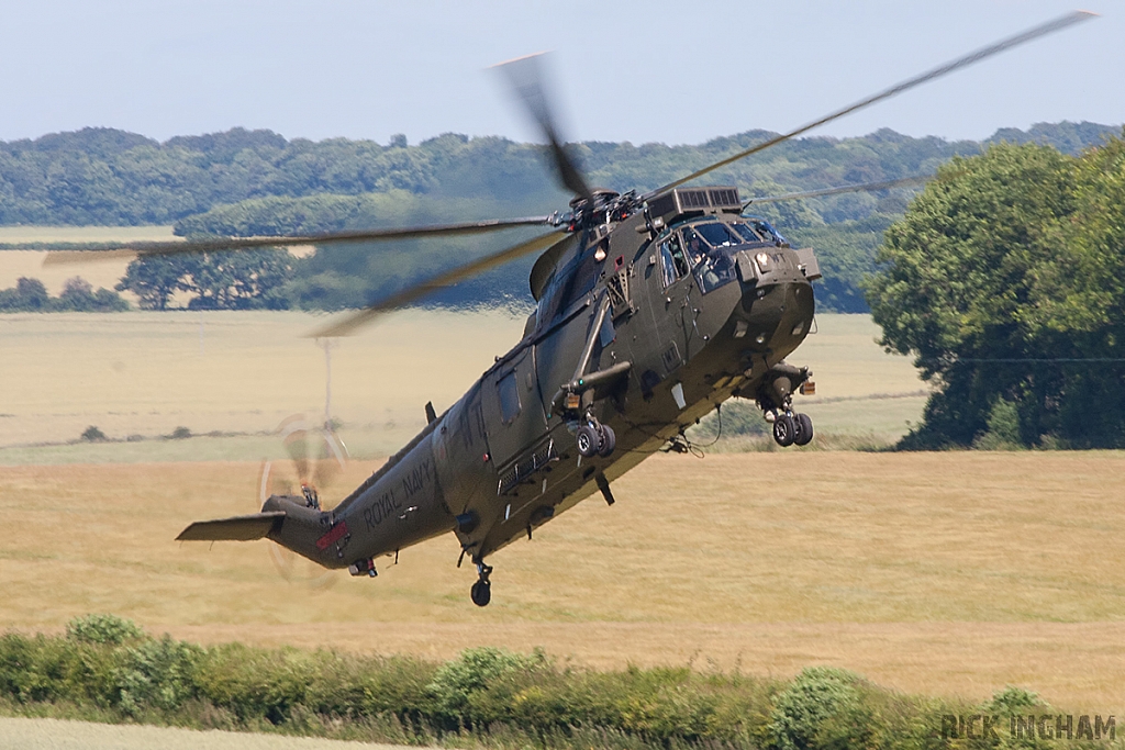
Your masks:
M768 222L740 217L724 223L695 220L672 228L658 241L664 286L694 273L705 295L738 278L732 254L749 246L780 246L785 238Z

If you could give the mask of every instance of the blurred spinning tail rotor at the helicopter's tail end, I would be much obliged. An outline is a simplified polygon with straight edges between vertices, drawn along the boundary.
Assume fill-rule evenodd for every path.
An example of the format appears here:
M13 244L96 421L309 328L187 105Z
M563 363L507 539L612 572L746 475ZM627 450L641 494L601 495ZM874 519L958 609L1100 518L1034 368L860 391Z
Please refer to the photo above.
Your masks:
M288 495L320 504L320 493L330 488L348 464L348 448L330 425L309 423L295 414L278 425L288 460L263 461L258 477L258 507L270 495ZM290 584L325 589L336 582L332 570L306 560L280 544L269 544L270 562L278 575Z

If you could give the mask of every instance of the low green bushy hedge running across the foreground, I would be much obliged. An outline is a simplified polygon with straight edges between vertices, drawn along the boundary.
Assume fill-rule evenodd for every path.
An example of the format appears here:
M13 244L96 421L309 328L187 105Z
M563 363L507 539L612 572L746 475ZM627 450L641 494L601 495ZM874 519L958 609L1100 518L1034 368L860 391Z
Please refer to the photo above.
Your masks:
M1018 688L972 705L904 696L829 668L781 681L688 667L594 671L495 648L441 665L237 643L204 648L150 638L108 615L79 618L64 636L0 638L0 708L400 744L622 750L922 750L952 747L942 739L943 721L973 714L996 716L997 738L1009 747L1008 716L1058 713ZM1011 747L1107 747L1100 739ZM996 746L986 738L956 747Z

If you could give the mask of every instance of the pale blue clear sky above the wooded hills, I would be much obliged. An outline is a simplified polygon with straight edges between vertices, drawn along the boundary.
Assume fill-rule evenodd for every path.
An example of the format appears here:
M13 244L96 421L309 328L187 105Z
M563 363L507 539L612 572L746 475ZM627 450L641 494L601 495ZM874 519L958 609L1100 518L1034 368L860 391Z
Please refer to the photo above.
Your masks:
M1099 18L848 116L988 137L1125 123L1125 0ZM538 139L489 66L550 51L570 141L702 143L784 132L1074 10L1058 0L6 0L0 139L115 127L165 141L442 133Z

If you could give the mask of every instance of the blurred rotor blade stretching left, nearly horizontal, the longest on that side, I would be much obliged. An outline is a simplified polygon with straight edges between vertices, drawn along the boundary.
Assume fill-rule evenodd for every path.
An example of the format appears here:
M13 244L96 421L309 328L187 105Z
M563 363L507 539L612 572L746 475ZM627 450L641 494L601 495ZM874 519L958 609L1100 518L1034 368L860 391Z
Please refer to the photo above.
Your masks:
M108 257L120 257L123 253L138 255L173 255L178 253L208 253L223 250L253 250L259 247L294 247L299 245L330 245L344 242L384 242L389 240L414 240L417 237L451 237L459 235L488 234L518 226L551 225L549 216L532 216L516 219L487 219L485 222L462 222L460 224L436 224L430 226L399 227L392 229L358 229L350 232L325 232L286 237L226 237L222 240L169 241L169 242L117 242L81 250L48 253L44 265L65 265L83 260L97 260L99 253ZM90 253L89 257L83 254Z

